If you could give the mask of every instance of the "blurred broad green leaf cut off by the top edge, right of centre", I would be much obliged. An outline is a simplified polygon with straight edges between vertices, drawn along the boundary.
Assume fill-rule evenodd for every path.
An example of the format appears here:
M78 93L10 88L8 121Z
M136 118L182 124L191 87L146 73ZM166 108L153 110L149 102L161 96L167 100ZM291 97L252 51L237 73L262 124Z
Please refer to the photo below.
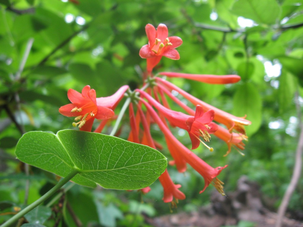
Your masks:
M271 25L276 22L280 7L275 0L239 0L232 6L231 12L251 19L258 24Z

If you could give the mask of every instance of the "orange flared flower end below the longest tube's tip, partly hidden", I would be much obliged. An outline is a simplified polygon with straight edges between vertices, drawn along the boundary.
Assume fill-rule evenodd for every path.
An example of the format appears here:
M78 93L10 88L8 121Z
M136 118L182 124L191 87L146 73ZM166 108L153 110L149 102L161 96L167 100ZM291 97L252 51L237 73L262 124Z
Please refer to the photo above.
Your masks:
M228 150L224 156L228 155L231 152L232 146L237 147L240 150L244 150L245 144L242 142L242 140L247 140L247 136L241 135L238 133L234 133L234 132L230 133L227 129L225 129L219 125L218 125L218 130L214 133L214 135L216 137L218 137L219 139L224 140L228 146ZM244 155L239 150L238 150L238 152L241 155Z

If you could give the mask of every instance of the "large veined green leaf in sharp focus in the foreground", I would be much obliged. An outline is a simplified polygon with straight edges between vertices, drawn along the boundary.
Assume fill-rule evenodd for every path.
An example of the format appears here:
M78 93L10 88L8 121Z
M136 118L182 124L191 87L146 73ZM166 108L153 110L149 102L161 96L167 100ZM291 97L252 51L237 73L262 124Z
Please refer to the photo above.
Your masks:
M167 166L160 152L100 133L62 130L57 134L28 132L16 146L22 162L65 177L80 185L133 190L151 185Z

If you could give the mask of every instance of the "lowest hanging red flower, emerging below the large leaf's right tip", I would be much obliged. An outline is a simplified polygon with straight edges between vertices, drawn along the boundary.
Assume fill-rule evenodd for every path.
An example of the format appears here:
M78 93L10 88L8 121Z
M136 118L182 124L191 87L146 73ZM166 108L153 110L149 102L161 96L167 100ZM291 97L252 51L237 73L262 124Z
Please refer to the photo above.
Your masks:
M159 176L159 181L164 189L164 196L162 198L164 202L172 202L174 197L176 202L178 202L178 199L185 199L184 193L178 189L181 187L181 185L174 184L168 174L167 169L165 169L164 173Z

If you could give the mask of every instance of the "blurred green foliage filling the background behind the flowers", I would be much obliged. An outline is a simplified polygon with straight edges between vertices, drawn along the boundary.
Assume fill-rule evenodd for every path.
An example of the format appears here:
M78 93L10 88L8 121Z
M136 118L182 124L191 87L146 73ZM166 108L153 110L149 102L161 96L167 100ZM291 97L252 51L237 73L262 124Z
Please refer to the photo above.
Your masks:
M56 182L36 168L25 176L14 150L24 132L72 128L72 120L58 113L69 103L69 88L80 91L90 85L102 97L124 84L142 84L146 63L138 52L147 43L147 23L164 23L170 36L183 40L180 60L162 59L156 71L241 76L233 85L172 81L215 107L247 114L252 125L246 127L244 157L236 150L223 157L227 146L214 137L213 153L201 147L195 152L212 166L229 165L220 175L227 194L245 174L261 185L276 209L294 165L299 122L295 94L301 110L303 106L302 10L302 2L295 0L0 0L0 212L22 206L27 179L28 202ZM187 135L175 132L190 144ZM157 128L154 133L161 140ZM127 135L125 127L121 137ZM187 196L174 212L208 203L210 188L198 194L204 185L201 176L191 169L185 175L169 170ZM151 188L141 198L136 192L74 186L62 203L55 203L45 225L58 221L76 226L72 208L84 225L147 226L141 212L151 217L169 212L161 201L161 185ZM289 209L303 210L302 197L301 178ZM9 216L1 215L0 223Z

